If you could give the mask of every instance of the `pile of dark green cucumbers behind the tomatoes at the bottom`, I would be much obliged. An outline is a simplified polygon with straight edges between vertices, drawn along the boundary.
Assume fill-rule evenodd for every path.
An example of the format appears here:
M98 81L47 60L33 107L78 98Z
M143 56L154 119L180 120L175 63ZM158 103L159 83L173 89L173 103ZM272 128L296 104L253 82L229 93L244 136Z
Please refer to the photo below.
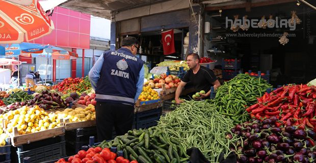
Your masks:
M103 141L98 147L117 147L123 151L124 158L143 163L180 163L189 159L186 149L179 142L170 140L159 127L129 130L125 135L112 141Z

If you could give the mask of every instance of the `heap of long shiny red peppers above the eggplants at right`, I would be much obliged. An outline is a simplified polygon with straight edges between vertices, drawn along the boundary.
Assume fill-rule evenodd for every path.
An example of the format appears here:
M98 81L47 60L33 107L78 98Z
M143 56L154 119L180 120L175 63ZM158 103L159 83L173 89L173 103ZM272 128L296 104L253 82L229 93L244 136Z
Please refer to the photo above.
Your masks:
M278 126L296 125L316 130L316 87L293 85L280 87L270 94L257 98L258 103L246 108L251 117L257 119L276 116Z

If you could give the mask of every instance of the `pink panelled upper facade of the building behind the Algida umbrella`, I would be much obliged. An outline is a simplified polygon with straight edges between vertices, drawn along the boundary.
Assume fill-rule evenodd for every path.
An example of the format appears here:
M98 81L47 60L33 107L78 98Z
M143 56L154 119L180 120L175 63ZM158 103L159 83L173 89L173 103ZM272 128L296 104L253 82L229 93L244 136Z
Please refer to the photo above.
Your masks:
M56 7L50 17L55 25L49 35L31 41L68 48L90 48L90 15Z

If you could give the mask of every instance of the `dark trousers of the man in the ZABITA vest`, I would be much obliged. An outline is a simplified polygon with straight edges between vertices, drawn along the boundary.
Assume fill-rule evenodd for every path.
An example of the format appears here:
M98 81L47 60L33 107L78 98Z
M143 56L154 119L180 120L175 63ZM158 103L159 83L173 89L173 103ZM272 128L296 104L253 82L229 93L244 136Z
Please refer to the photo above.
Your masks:
M95 114L98 142L112 140L113 126L116 135L123 135L131 129L134 120L134 106L97 102Z

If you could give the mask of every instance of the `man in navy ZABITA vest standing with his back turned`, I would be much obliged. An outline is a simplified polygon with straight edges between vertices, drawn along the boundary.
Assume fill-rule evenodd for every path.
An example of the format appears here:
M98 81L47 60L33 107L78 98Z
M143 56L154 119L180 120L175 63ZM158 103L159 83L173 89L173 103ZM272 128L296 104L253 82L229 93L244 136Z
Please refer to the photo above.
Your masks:
M121 48L104 52L89 72L99 142L112 139L113 126L123 135L133 125L134 104L144 83L144 63L135 56L138 49L139 41L126 37Z

